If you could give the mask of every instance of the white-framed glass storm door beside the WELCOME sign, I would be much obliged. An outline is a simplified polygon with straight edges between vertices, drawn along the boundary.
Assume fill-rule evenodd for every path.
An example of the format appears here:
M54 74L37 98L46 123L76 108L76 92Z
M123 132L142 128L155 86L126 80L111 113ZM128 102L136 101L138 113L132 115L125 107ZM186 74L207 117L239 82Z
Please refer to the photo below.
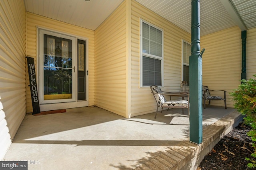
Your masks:
M76 100L75 38L40 30L41 104Z

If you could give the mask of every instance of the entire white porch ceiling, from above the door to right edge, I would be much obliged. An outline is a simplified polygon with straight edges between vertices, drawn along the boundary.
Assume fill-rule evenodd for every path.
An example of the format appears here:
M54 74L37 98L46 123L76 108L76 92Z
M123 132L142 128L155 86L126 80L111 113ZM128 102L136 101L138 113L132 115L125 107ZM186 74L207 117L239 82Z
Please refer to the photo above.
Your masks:
M166 20L191 32L191 0L136 0ZM95 30L123 0L24 0L26 11ZM238 25L256 27L256 0L201 0L200 34Z

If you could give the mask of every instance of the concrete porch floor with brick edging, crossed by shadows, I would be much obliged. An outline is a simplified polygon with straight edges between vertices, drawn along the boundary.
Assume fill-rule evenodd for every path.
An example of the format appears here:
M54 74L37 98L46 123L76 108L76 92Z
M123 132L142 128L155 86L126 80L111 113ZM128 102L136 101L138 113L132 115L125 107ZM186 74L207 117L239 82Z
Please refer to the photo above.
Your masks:
M233 108L203 109L203 143L189 142L187 110L126 119L99 107L27 114L4 160L28 170L195 169L242 116Z

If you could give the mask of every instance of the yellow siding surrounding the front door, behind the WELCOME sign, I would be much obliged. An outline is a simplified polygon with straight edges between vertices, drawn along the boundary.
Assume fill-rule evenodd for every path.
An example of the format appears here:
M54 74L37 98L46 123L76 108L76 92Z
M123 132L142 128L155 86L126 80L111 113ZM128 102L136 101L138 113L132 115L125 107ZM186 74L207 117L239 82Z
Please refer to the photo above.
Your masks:
M37 26L50 29L56 32L67 33L71 35L76 35L78 37L88 38L88 62L89 62L89 106L94 105L94 31L64 23L61 21L52 20L46 17L32 14L30 12L26 13L26 55L34 58L36 64L37 57ZM38 73L37 73L38 74ZM28 78L27 78L28 82ZM27 88L27 112L32 112L32 102L30 96L30 88Z

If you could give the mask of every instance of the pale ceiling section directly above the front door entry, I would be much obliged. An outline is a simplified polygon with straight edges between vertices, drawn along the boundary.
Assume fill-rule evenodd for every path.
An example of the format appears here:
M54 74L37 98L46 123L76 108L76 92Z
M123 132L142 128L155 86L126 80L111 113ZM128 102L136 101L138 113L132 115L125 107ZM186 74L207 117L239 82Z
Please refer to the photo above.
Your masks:
M24 0L26 11L95 30L123 0Z

